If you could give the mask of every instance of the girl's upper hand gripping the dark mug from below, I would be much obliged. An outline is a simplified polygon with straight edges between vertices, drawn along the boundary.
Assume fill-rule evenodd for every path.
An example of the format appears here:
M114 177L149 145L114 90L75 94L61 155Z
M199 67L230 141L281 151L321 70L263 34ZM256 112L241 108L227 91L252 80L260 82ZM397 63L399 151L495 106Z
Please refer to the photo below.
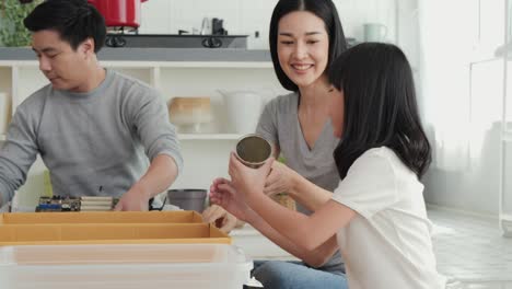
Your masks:
M259 169L252 169L244 165L234 154L231 153L229 173L232 185L238 194L246 197L253 194L263 194L274 158L268 159Z

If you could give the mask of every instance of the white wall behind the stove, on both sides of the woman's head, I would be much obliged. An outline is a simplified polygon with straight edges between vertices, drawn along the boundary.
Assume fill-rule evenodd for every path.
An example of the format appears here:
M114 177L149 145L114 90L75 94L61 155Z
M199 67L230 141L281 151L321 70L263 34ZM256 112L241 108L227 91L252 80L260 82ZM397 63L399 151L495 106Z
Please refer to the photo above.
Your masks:
M362 39L364 23L388 27L395 41L395 0L335 0L348 37ZM416 2L407 0L407 2ZM200 31L203 18L224 20L229 34L249 35L253 49L268 48L268 25L276 0L150 0L142 4L141 34L177 34ZM259 32L259 38L255 32Z

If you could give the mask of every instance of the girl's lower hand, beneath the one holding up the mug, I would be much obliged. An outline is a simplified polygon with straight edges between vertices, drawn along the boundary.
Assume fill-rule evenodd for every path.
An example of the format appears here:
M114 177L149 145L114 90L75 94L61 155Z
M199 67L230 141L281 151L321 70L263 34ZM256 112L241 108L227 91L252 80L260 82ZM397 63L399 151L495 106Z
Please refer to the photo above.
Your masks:
M219 177L210 186L210 203L224 208L235 218L242 221L249 221L254 217L254 211L245 203L243 194L236 192L233 184L225 178Z

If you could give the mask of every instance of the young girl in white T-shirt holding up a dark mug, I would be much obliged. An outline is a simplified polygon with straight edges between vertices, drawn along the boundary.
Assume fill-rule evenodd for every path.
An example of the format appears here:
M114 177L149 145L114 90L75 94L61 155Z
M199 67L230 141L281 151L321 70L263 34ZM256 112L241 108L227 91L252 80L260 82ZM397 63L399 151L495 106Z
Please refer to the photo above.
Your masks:
M322 262L339 246L350 289L444 288L419 181L431 151L405 55L388 44L358 45L333 63L330 80L342 180L331 199L311 216L288 210L264 193L272 160L254 170L232 154L232 181L216 180L211 200L284 235L306 259Z

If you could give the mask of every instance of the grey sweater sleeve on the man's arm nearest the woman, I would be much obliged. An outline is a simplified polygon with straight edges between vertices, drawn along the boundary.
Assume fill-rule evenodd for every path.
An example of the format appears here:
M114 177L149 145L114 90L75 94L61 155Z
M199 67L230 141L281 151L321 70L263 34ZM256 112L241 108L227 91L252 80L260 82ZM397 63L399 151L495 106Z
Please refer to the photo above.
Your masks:
M136 94L131 97L130 114L146 154L151 161L159 154L170 155L179 174L183 171L182 152L163 97L153 89L136 89Z

